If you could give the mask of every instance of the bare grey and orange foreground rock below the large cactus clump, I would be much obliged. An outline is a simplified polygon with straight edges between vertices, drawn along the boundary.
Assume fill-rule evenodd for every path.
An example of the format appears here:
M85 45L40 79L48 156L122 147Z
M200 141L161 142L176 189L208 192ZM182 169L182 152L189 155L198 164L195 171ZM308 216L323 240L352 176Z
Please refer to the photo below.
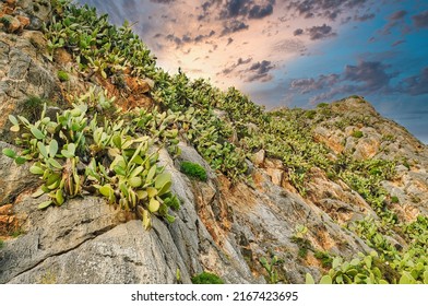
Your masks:
M187 160L201 158L194 149L181 148ZM174 283L178 269L187 283L204 270L229 283L260 283L259 258L273 251L285 259L282 280L301 283L306 272L319 272L308 264L313 257L297 256L296 224L311 228L307 238L313 249L368 250L322 210L259 170L255 189L245 184L230 188L226 178L189 179L166 151L160 163L173 174L173 190L181 199L174 224L155 220L152 231L144 231L132 214L92 197L40 211L43 199L26 196L13 205L25 234L1 250L0 282Z

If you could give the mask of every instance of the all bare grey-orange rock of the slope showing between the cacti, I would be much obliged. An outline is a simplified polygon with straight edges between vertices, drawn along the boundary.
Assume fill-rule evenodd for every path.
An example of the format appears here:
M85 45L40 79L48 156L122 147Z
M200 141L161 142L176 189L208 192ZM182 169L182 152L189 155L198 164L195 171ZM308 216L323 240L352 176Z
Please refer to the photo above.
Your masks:
M50 1L8 2L12 4L0 3L1 10L20 24L0 28L0 150L12 148L9 115L32 116L28 98L36 96L55 102L48 109L54 118L63 94L56 78L60 67L47 59L46 40L37 31L49 16ZM71 58L64 49L56 56ZM62 64L71 67L67 61ZM106 80L78 73L70 78L72 91L108 85ZM126 81L138 97L153 87L150 80ZM395 178L382 186L396 197L391 205L403 220L427 215L426 145L360 98L333 103L331 109L337 116L312 130L313 139L330 148L330 157L346 153L355 161L405 158L406 166L399 165ZM38 210L44 199L33 199L31 193L39 179L29 174L29 165L19 167L1 154L0 283L190 283L203 271L226 283L265 283L269 275L260 259L272 255L282 259L276 267L280 282L304 283L307 272L314 278L325 272L317 251L350 258L371 250L345 225L378 216L342 179L312 167L302 197L287 180L286 165L260 150L252 162L247 161L251 178L231 184L212 170L194 148L185 142L179 148L177 160L162 149L159 164L171 174L171 189L181 208L171 224L154 217L151 231L144 231L134 214L85 193L61 207ZM207 180L187 177L179 170L181 161L202 165Z

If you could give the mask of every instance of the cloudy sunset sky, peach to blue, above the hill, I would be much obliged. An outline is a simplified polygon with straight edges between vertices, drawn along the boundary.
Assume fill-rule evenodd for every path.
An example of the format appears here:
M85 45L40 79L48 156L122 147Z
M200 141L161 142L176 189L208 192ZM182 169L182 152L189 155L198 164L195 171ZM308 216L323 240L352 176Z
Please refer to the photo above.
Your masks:
M428 143L428 0L80 0L133 30L170 73L266 109L361 95Z

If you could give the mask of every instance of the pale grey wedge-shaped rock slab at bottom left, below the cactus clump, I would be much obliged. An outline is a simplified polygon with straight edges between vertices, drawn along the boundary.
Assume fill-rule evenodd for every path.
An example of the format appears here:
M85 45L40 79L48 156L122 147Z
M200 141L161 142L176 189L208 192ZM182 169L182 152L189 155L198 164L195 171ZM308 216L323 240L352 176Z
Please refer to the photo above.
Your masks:
M153 231L145 232L141 222L131 221L48 257L9 283L165 284L177 281L177 270L190 283L166 226L155 220Z

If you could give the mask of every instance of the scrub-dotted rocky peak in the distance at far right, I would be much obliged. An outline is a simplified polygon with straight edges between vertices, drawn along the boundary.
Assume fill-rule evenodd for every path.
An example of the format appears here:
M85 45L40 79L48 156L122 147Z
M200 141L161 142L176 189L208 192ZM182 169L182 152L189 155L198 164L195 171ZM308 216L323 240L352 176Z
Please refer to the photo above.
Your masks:
M399 161L401 165L396 167L394 180L382 183L391 197L397 197L399 202L392 203L392 207L402 219L407 221L415 220L418 214L426 215L428 210L427 146L397 123L381 117L360 97L332 103L331 110L335 116L325 119L317 127L313 137L335 154L346 153L356 161L377 158ZM326 185L332 184L326 179L323 181ZM323 198L320 190L329 190L333 193L336 190L331 187L320 188L322 184L317 181L317 178L311 181L311 185L318 193L317 199ZM342 192L334 197L348 199L354 209L355 204L362 200L350 200ZM318 202L322 203L323 200ZM361 208L360 204L357 207ZM364 211L366 213L367 209Z

